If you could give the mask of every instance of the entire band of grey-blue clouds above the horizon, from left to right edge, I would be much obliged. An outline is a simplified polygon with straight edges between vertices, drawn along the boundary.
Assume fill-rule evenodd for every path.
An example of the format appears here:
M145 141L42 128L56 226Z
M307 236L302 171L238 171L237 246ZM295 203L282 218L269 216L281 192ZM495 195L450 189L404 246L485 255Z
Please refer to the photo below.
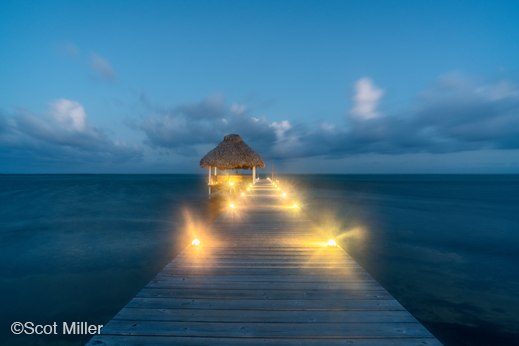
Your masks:
M241 135L265 160L519 149L519 86L511 80L482 83L443 76L416 95L410 107L392 113L379 109L384 93L362 78L354 84L352 106L342 120L312 125L268 119L246 104L228 102L223 94L174 107L154 105L142 95L144 115L128 124L142 134L146 152L157 157L200 157L229 133ZM110 134L89 120L83 105L58 99L42 113L0 112L0 157L22 165L47 161L83 167L143 161L143 148ZM152 156L146 159L153 162Z

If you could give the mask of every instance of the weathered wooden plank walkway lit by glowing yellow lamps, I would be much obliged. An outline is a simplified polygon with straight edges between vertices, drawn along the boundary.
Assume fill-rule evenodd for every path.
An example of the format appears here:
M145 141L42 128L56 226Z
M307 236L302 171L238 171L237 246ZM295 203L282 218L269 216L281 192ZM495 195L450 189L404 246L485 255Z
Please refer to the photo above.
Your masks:
M441 345L260 181L87 345Z

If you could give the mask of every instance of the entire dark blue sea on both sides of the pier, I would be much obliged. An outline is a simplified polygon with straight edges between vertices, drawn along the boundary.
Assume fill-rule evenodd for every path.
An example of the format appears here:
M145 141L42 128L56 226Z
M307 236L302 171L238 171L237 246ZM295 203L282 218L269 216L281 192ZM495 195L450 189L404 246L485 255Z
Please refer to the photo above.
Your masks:
M87 342L10 326L105 324L216 215L205 179L0 175L0 345ZM278 179L445 345L519 345L519 176Z

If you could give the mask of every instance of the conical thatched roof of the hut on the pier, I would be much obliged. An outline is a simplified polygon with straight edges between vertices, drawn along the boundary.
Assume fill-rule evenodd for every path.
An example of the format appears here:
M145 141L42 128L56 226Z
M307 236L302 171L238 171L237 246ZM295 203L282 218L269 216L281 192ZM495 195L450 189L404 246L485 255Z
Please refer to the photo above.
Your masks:
M265 162L238 135L227 135L223 142L200 160L200 167L219 169L265 168Z

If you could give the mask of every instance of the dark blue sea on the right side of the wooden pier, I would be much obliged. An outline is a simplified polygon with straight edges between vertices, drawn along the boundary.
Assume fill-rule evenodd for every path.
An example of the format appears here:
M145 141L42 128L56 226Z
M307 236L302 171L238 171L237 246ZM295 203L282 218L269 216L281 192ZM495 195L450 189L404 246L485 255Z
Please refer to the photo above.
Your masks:
M444 345L519 345L519 176L284 178Z

